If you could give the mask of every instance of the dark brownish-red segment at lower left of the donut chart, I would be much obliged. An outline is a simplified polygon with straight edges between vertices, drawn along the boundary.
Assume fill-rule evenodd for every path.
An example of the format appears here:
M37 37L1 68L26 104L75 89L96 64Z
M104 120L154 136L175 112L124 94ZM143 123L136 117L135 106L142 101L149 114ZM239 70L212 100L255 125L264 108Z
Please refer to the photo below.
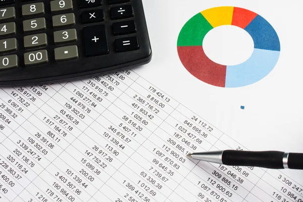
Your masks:
M178 54L183 66L197 79L208 84L225 87L226 66L210 60L203 46L178 46Z

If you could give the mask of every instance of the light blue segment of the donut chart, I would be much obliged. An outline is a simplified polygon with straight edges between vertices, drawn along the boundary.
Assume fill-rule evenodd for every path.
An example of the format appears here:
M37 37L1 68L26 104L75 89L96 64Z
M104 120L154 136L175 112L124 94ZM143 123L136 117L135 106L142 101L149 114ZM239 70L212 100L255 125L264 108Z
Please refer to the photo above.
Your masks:
M225 87L242 87L263 79L274 69L279 56L280 51L255 48L244 63L227 66Z

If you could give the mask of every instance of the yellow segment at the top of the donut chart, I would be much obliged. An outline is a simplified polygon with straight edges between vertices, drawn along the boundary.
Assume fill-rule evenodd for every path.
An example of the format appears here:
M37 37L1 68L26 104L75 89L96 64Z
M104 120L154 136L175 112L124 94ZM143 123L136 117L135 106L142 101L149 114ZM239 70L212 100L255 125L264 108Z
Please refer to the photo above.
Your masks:
M202 11L201 14L215 28L221 25L231 25L234 7L216 7Z

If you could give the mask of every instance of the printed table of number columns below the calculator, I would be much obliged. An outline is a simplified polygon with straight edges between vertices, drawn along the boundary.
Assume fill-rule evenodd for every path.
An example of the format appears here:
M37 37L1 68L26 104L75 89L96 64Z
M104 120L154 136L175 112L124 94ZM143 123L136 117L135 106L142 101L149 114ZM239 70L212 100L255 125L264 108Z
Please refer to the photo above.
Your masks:
M0 201L303 201L280 170L186 158L249 148L134 71L0 95Z

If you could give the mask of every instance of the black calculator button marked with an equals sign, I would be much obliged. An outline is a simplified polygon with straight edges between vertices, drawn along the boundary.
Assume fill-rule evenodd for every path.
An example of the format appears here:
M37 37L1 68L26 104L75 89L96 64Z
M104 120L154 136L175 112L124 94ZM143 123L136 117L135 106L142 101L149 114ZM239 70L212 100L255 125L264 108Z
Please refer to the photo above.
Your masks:
M116 52L134 51L139 49L138 38L136 36L120 38L115 40Z

